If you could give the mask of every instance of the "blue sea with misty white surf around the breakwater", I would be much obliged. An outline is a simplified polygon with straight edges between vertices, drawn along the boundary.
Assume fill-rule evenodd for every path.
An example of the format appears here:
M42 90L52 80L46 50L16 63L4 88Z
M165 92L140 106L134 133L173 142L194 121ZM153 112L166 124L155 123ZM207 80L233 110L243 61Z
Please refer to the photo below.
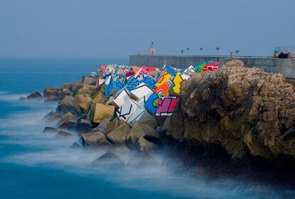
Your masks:
M100 63L127 59L0 60L0 198L294 198L294 190L175 173L169 168L96 169L104 151L69 149L76 141L42 134L56 102L19 102L46 86L81 80ZM124 158L124 157L123 157Z

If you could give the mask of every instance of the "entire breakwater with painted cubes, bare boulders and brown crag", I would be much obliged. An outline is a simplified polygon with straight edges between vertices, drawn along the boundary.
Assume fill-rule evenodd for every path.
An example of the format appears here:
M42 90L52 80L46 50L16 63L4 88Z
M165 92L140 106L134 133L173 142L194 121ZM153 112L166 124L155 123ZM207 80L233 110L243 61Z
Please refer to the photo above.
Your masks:
M93 166L160 166L153 155L165 149L165 166L295 182L295 95L283 75L233 60L162 71L108 65L91 76L46 88L43 97L59 103L43 121L54 122L44 133L76 134L73 148L107 149Z

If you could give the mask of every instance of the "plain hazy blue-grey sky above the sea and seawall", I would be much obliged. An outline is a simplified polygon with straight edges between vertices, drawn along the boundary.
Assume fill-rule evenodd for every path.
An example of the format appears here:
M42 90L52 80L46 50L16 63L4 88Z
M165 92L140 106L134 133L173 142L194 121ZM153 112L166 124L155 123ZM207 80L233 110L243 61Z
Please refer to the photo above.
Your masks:
M0 57L271 55L295 45L295 1L0 0Z

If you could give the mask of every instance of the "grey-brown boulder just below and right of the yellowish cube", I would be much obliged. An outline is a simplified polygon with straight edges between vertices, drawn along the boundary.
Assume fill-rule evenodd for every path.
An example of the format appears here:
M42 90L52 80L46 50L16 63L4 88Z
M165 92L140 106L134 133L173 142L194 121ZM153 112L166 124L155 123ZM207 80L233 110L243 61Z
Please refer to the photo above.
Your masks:
M113 144L125 144L126 136L130 131L128 124L121 124L120 127L111 131L107 137Z

